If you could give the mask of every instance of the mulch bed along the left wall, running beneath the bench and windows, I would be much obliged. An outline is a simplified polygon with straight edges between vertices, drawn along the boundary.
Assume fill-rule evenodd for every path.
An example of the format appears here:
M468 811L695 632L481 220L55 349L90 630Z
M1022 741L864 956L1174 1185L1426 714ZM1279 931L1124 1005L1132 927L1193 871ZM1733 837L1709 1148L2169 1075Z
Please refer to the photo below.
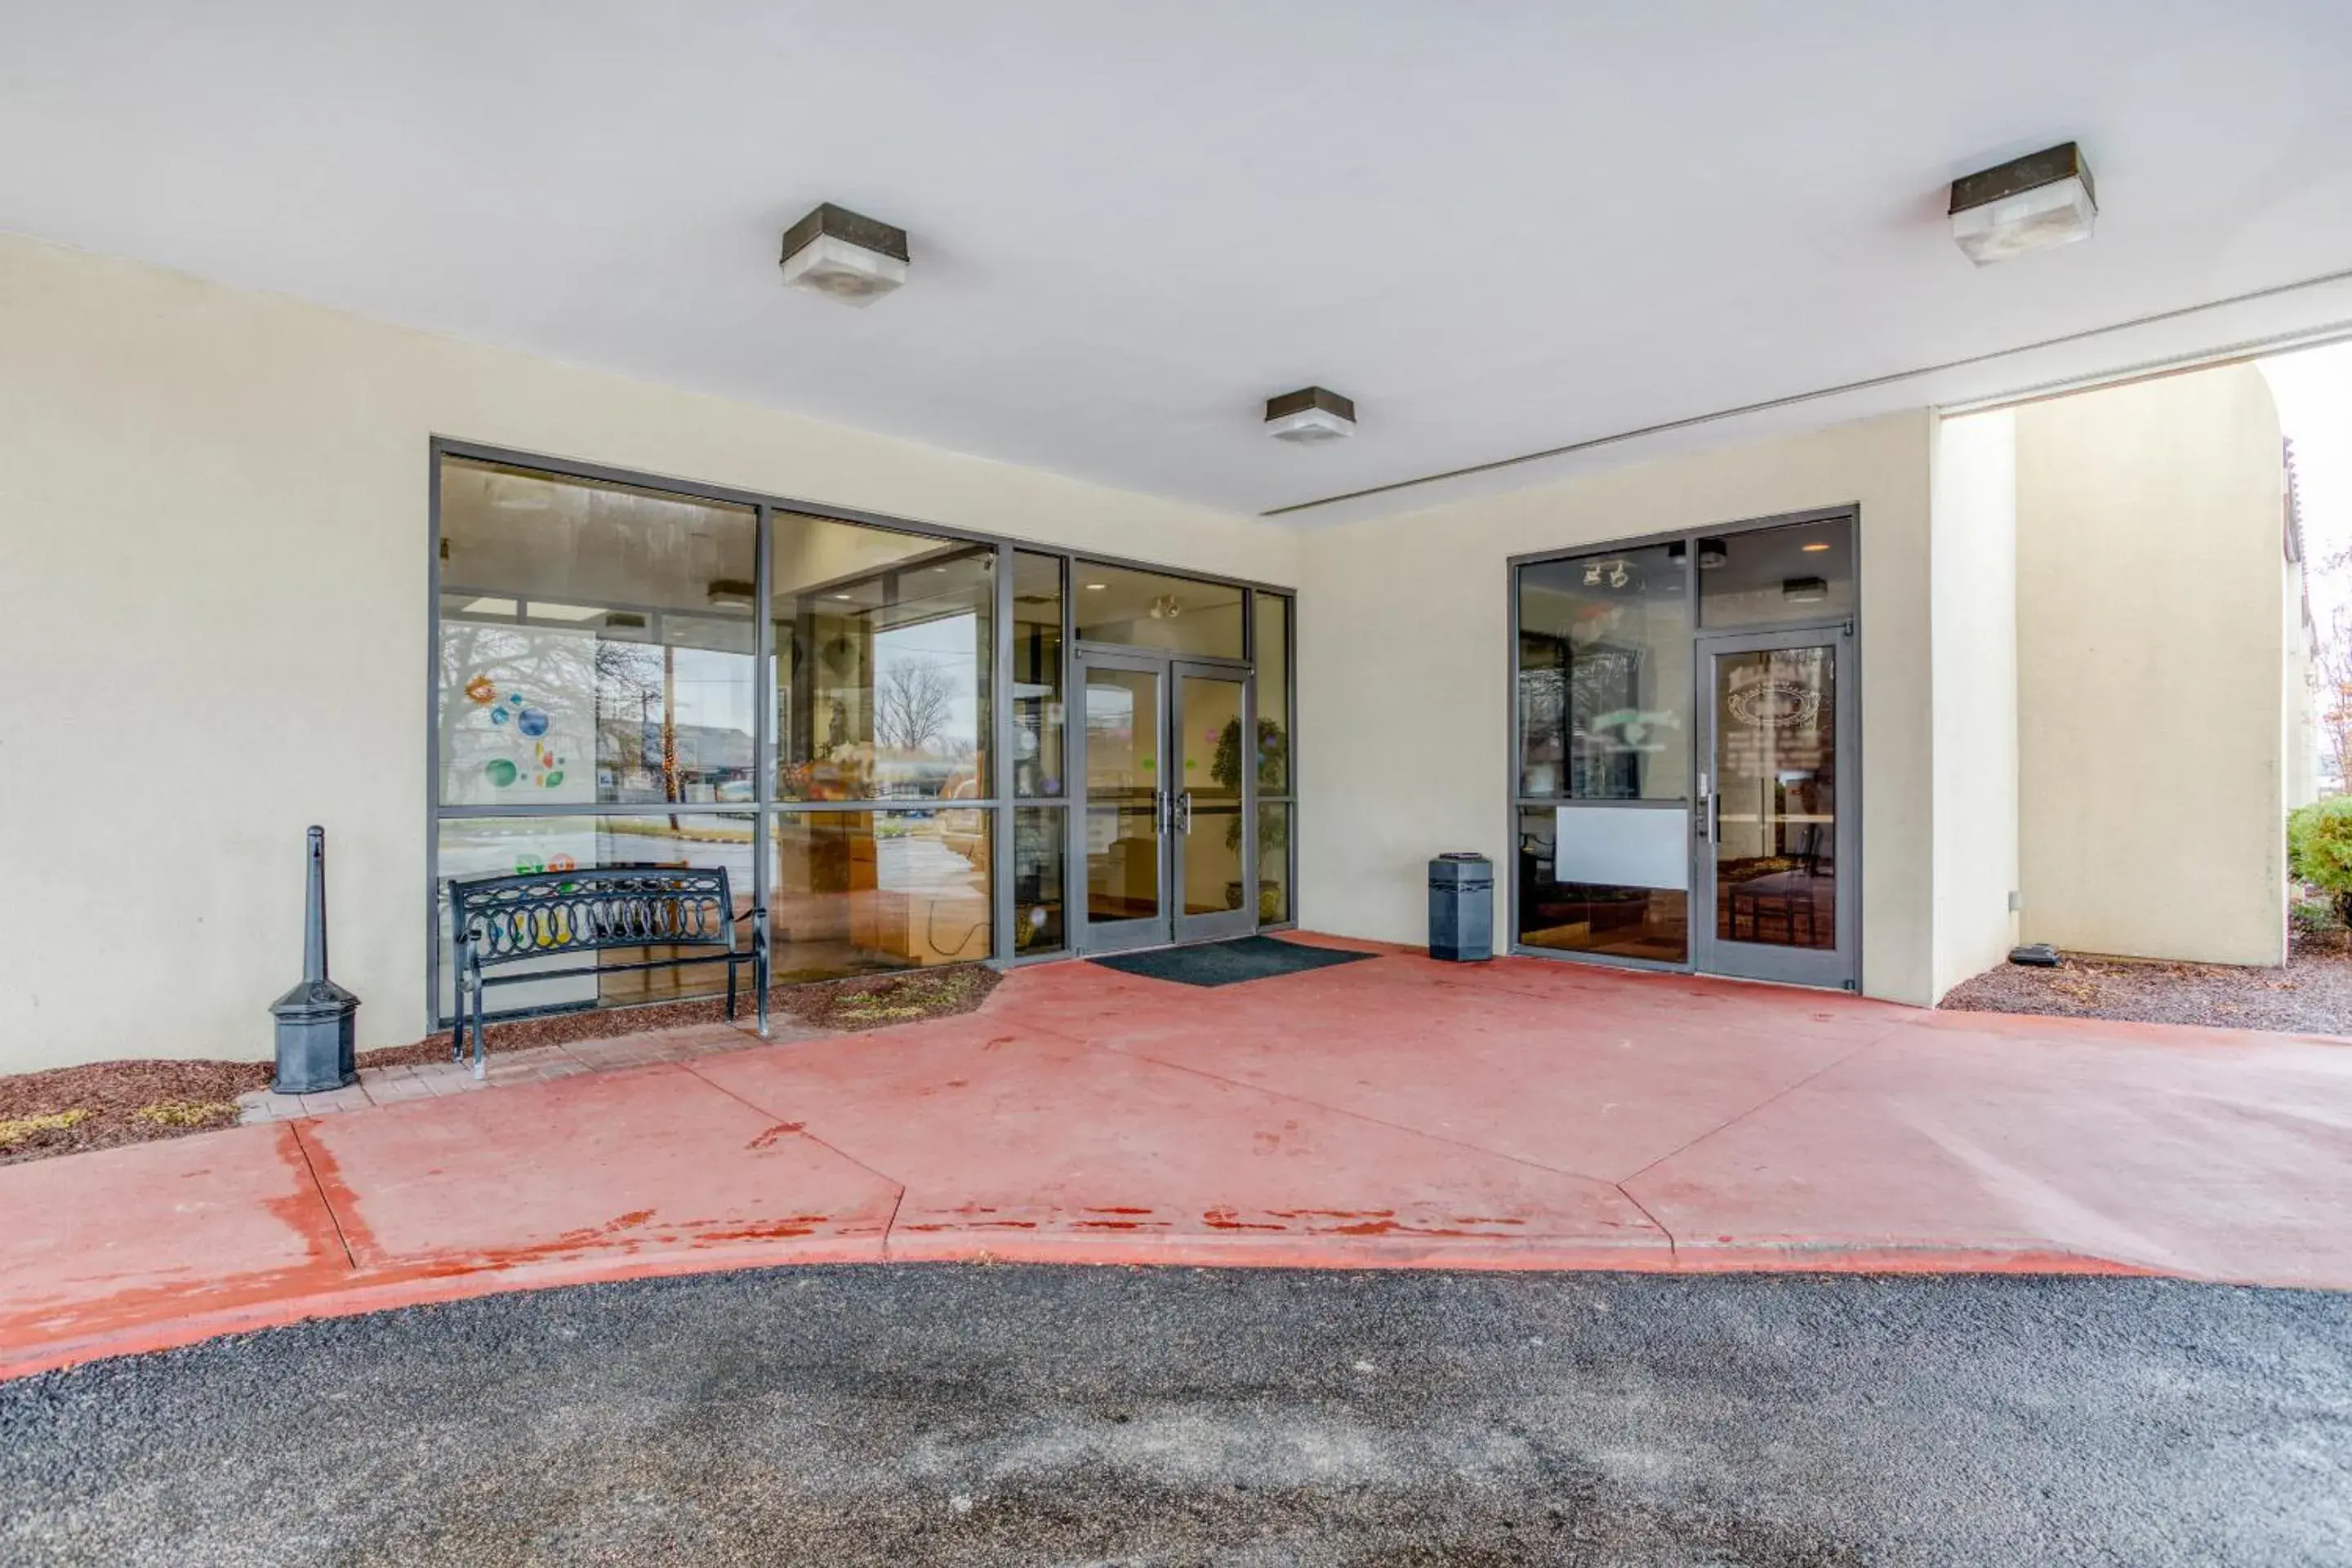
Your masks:
M955 964L858 980L779 985L769 992L769 1009L814 1030L887 1030L971 1013L988 1001L988 992L1002 978L985 964ZM739 1018L743 1016L748 1004L739 1009ZM590 1009L494 1023L485 1032L485 1048L499 1056L724 1020L724 997ZM447 1034L430 1034L412 1046L360 1051L362 1067L445 1060L449 1060ZM0 1166L235 1126L235 1098L268 1088L268 1081L270 1063L221 1060L85 1063L0 1077Z

